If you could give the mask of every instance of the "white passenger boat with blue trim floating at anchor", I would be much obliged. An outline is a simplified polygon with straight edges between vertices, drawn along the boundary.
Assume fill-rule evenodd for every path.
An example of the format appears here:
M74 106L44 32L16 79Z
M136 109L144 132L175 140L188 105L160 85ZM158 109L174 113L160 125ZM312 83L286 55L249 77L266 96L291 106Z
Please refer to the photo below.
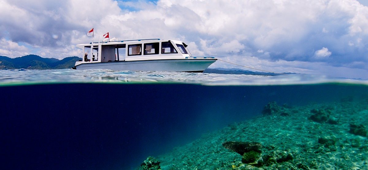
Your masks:
M85 57L73 69L203 72L217 59L193 57L179 40L137 39L79 44ZM92 56L92 57L91 57Z

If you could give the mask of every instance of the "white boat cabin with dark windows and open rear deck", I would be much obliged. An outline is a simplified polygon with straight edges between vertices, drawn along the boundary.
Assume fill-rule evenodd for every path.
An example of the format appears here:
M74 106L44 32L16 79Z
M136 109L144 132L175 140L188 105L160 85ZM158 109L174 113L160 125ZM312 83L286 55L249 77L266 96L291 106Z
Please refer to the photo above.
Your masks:
M114 61L185 59L191 57L187 45L178 40L116 39L109 42L79 44L78 48L88 54L88 60L82 57L79 63L102 63ZM91 49L92 48L92 49Z

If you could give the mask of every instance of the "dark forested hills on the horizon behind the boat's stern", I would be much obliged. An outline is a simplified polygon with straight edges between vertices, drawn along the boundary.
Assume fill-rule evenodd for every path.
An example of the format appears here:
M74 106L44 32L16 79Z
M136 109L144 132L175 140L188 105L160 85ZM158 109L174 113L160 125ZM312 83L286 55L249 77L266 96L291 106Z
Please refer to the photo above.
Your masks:
M62 60L54 58L42 58L37 55L27 55L11 59L6 56L0 56L0 69L63 69L74 66L75 61L81 60L79 57L66 57Z

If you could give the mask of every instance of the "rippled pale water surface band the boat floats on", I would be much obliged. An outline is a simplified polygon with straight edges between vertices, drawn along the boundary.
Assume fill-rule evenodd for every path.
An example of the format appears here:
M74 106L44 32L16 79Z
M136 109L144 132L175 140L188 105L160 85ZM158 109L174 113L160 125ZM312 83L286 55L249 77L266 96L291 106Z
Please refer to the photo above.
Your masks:
M1 85L23 85L43 83L188 83L202 85L287 85L318 83L350 83L367 85L367 80L332 79L315 75L245 75L209 74L165 71L113 71L91 70L0 70Z

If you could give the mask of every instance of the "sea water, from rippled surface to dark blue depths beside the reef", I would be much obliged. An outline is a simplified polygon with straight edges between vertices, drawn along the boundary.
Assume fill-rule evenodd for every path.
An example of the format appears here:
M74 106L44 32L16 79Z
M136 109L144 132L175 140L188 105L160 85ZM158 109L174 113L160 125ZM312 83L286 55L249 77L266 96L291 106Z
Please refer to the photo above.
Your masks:
M300 107L368 101L368 81L304 74L19 69L0 70L0 93L1 169L135 170L148 156L160 157L262 116L270 102ZM218 169L231 169L223 166Z

